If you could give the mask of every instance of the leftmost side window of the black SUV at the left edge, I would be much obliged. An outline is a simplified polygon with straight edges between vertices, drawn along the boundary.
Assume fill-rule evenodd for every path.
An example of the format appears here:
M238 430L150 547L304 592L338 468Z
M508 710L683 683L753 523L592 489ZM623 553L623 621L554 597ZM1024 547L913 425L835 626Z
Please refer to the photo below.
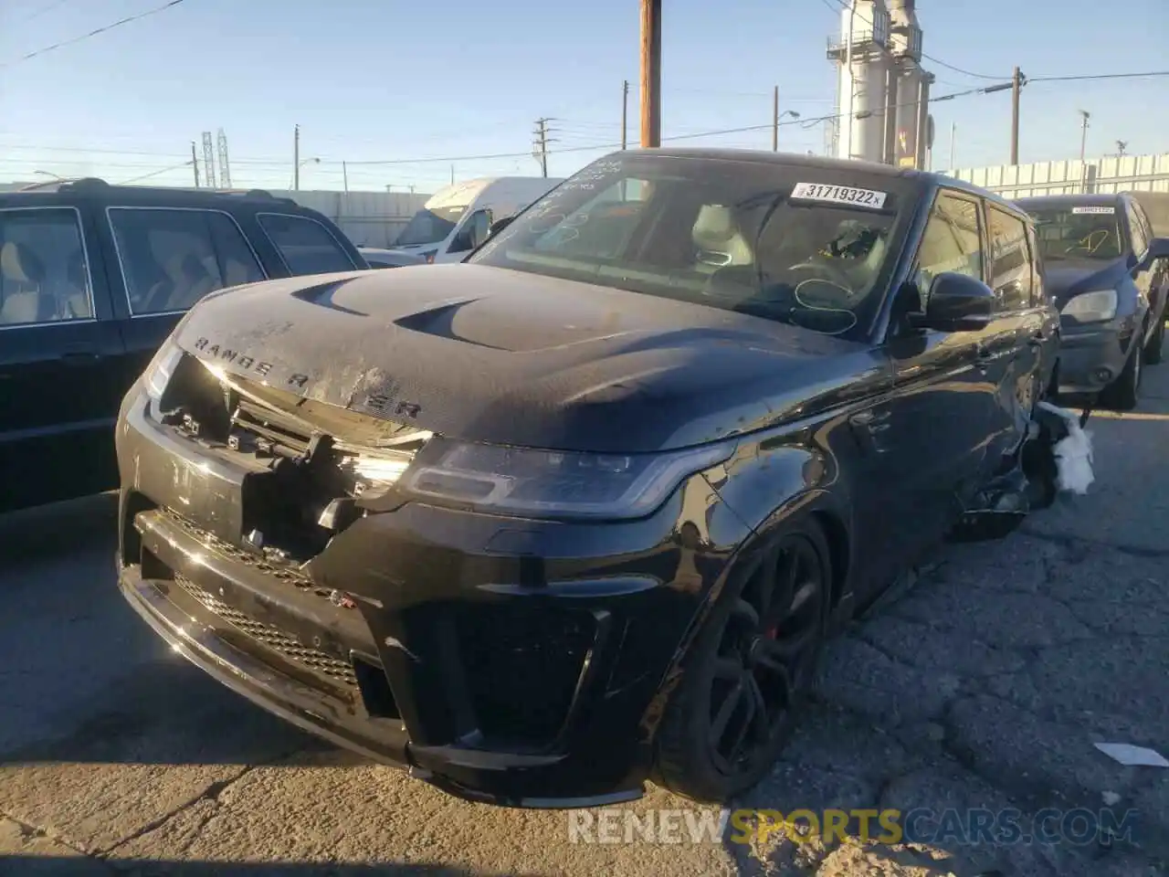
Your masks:
M92 318L77 212L0 210L0 326Z

